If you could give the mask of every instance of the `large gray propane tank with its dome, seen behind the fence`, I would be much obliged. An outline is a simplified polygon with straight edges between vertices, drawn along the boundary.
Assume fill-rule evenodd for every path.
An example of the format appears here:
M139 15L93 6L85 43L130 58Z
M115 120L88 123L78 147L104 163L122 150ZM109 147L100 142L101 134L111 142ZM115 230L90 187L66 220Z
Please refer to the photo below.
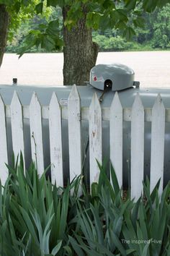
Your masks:
M102 107L109 108L115 95L115 90L118 91L122 108L131 108L135 100L135 95L140 94L144 108L152 108L158 93L161 93L161 98L165 108L170 108L170 88L139 88L139 82L134 81L135 73L133 69L122 65L97 65L91 69L90 84L87 86L78 86L79 95L81 98L81 107L89 107L94 93L97 93ZM135 85L135 86L133 86ZM71 93L72 86L23 86L23 85L0 85L0 94L5 105L10 105L14 90L16 90L19 99L23 106L29 106L33 92L37 94L41 106L49 106L53 92L56 93L58 101L62 106L67 105L68 95ZM7 127L7 143L9 162L12 159L12 131L11 121L6 119ZM124 186L128 184L128 176L130 174L130 137L131 137L130 121L123 121L123 180ZM89 166L89 124L88 121L81 121L82 135L82 152L87 150L87 157L84 165L84 170L88 173ZM67 181L69 170L69 154L68 154L68 121L62 120L62 139L63 139L63 171L64 179ZM42 140L44 151L45 168L50 165L50 142L48 119L42 119ZM144 138L144 175L150 173L151 166L151 122L145 122L145 138ZM30 146L30 123L29 119L24 118L24 148L25 148L25 163L28 168L31 163L31 146ZM166 122L165 127L165 153L164 153L164 185L170 179L170 123ZM102 121L102 155L103 158L109 158L109 121ZM84 157L84 156L83 156ZM128 164L129 163L129 164ZM87 174L88 176L88 174Z

